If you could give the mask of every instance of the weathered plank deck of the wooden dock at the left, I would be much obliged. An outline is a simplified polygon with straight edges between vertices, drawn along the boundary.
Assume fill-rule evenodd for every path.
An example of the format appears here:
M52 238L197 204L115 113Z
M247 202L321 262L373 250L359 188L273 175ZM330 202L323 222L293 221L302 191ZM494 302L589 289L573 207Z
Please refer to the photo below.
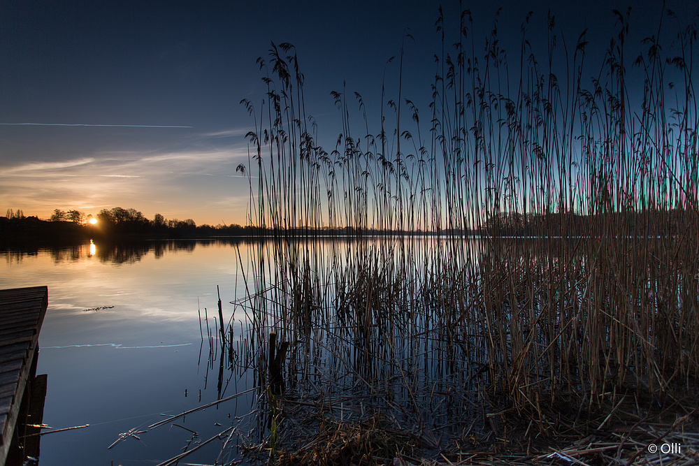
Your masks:
M13 440L24 388L36 371L47 307L46 286L0 290L0 465Z

